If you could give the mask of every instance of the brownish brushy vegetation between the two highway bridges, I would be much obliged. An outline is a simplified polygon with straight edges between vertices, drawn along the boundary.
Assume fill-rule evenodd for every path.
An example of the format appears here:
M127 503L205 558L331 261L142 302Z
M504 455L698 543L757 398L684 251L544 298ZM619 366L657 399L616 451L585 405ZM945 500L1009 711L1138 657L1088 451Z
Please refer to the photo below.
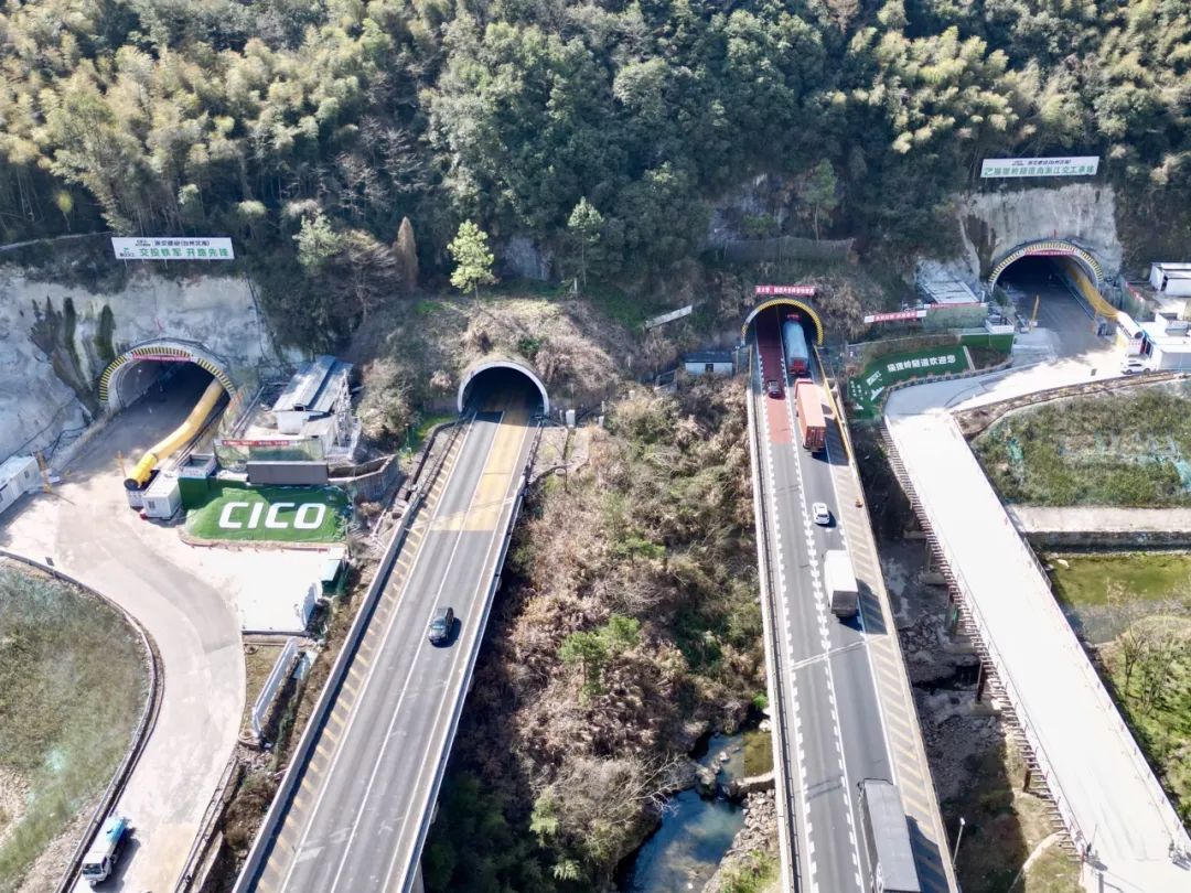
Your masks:
M743 388L615 404L518 526L428 889L599 889L667 768L763 691Z

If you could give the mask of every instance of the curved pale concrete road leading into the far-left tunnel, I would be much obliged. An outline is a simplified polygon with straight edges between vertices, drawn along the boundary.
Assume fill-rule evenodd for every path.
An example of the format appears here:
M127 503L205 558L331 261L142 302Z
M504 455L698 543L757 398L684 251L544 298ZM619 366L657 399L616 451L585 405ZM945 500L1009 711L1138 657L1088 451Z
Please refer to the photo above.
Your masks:
M129 508L117 451L131 457L175 427L205 382L121 412L66 469L52 494L6 513L0 544L45 561L133 614L164 667L161 713L117 810L135 826L113 891L173 889L231 756L244 704L244 658L229 569ZM211 573L202 572L207 560ZM96 713L102 722L102 710ZM107 783L107 780L104 780ZM91 888L80 882L79 891Z

